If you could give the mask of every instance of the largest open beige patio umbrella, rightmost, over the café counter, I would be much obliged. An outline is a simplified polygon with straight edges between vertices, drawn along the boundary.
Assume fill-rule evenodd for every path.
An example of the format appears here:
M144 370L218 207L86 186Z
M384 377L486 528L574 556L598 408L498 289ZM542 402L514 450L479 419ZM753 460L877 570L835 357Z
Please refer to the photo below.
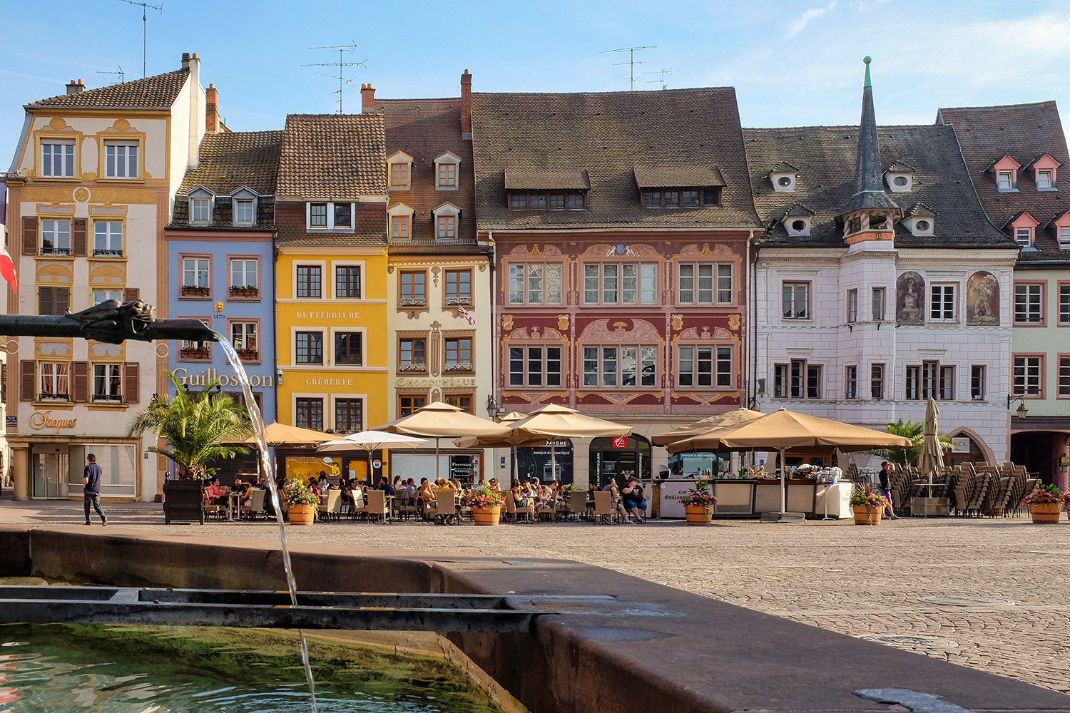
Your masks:
M768 416L725 429L717 436L729 449L775 448L780 451L780 514L788 507L784 456L790 448L839 448L847 453L873 448L910 448L910 438L781 408Z

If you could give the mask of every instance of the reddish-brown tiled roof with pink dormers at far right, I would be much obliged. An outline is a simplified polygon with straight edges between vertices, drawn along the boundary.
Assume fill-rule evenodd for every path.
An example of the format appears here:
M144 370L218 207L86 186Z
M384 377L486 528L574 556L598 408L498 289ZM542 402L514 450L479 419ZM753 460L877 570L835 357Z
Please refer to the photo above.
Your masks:
M1064 173L1070 170L1070 155L1055 102L941 109L936 121L954 126L969 175L994 223L1003 226L1027 211L1044 226L1037 228L1037 249L1023 250L1019 261L1070 262L1070 250L1060 250L1054 229L1046 227L1052 218L1070 210L1070 172ZM1018 172L1018 191L1000 192L995 176L985 172L1005 155L1025 167L1043 154L1063 164L1056 172L1059 190L1037 190L1033 171L1023 168Z

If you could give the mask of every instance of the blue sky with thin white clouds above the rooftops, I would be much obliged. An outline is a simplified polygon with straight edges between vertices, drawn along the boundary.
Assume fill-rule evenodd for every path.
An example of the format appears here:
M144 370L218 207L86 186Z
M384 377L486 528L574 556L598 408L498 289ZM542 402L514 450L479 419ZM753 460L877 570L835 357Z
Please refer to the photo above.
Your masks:
M148 73L201 58L233 130L281 128L287 113L360 111L360 86L380 97L476 92L736 88L744 126L857 124L863 56L872 56L880 124L931 123L942 106L1055 99L1070 87L1066 0L152 0ZM124 0L0 0L0 171L24 104L142 71L141 7ZM63 18L57 31L57 18ZM1067 108L1064 106L1064 110Z

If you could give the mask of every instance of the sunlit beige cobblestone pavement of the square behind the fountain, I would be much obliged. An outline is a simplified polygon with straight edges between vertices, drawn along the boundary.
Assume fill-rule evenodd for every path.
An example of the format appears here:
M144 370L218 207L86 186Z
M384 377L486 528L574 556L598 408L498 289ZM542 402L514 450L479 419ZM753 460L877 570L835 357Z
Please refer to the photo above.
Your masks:
M81 525L80 502L0 501L0 523L76 525L89 534L162 530L175 536L275 541L273 524L163 524L158 505L107 505L109 525ZM292 543L351 542L502 557L552 557L651 582L844 634L935 637L913 650L1070 693L1070 523L904 518L880 527L677 522L435 527L318 523L291 527ZM96 516L94 514L94 522ZM984 598L949 606L926 598ZM999 602L1009 600L1012 603ZM937 642L938 644L938 642ZM945 642L946 644L946 642ZM829 666L849 662L829 661Z

